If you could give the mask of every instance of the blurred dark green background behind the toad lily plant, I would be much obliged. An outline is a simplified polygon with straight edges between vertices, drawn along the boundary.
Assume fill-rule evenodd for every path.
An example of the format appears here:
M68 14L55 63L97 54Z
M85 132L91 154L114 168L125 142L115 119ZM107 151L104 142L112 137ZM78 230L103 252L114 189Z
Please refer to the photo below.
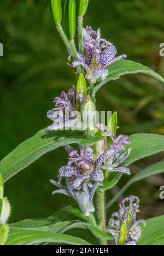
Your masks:
M4 56L0 57L2 159L51 124L46 112L54 107L54 97L73 85L74 69L66 65L68 54L57 35L48 0L1 0L0 23L0 42L4 46ZM159 45L164 42L163 0L90 0L86 25L95 30L101 27L102 37L113 42L118 55L127 54L128 59L164 76L164 57L159 55ZM164 135L163 96L164 87L158 81L147 75L128 75L99 90L97 109L117 110L121 133ZM134 163L132 175L162 158L163 154L157 154ZM61 194L51 195L55 187L49 179L55 179L58 169L66 163L64 149L58 148L5 184L5 195L12 205L10 222L49 216L74 203ZM112 198L129 179L125 175L107 192L106 199ZM164 176L156 175L134 183L124 194L140 197L140 218L164 214L163 201L159 199L161 185ZM114 210L118 210L118 202L107 216ZM90 240L93 242L94 238L90 236Z

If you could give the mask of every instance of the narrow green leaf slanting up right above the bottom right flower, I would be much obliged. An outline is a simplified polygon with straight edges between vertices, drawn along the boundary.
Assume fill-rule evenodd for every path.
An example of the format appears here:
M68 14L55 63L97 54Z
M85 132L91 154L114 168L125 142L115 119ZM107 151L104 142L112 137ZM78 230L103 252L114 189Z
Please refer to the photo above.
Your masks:
M150 165L149 167L139 171L136 175L132 177L130 181L128 181L124 187L122 187L118 193L112 198L112 200L108 203L107 207L110 207L126 190L130 187L134 182L139 180L146 179L151 175L156 175L164 172L164 160L160 161L159 163Z

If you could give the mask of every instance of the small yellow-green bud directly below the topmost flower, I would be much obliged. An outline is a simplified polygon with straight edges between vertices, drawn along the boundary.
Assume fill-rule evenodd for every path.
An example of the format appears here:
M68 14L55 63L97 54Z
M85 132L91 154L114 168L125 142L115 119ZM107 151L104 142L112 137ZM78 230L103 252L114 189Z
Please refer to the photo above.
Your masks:
M79 75L79 79L76 86L76 105L77 105L78 111L80 110L79 94L78 94L79 91L82 91L83 96L86 97L86 81L82 73Z

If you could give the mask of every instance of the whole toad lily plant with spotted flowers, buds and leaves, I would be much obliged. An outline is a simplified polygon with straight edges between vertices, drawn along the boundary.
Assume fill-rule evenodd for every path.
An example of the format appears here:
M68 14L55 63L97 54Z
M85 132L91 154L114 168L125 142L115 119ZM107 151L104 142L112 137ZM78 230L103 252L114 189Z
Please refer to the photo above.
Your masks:
M90 2L93 4L94 1ZM96 31L91 28L94 24L88 24L84 28L88 4L89 0L78 0L77 4L75 0L50 0L52 18L67 48L67 64L75 71L75 79L72 84L67 85L67 92L61 88L61 96L55 97L55 105L47 113L53 123L21 143L0 163L3 176L3 179L0 176L1 244L90 244L83 237L83 232L81 238L65 233L72 228L91 231L97 239L96 244L164 244L164 216L137 220L138 195L123 199L119 204L119 212L112 214L113 210L109 208L114 202L120 202L122 193L132 183L163 172L162 160L140 170L131 179L134 171L133 165L129 165L163 151L164 136L144 133L122 135L116 111L111 113L109 109L110 115L105 113L102 116L102 112L96 110L98 89L122 75L144 73L161 83L164 83L164 79L142 64L127 60L126 54L116 54L116 47L111 42L112 35L109 41L102 37L99 28ZM77 14L78 46L75 45L77 40L74 41ZM121 38L118 38L119 41ZM62 204L74 204L60 209L46 219L30 219L8 225L6 222L10 205L3 197L3 180L9 180L45 153L61 146L65 147L66 158L63 158L63 166L54 166L53 180L50 180L57 188L52 192L52 208L56 209L58 193L62 193ZM54 154L54 164L57 160ZM36 171L40 175L39 168ZM122 176L123 182L127 182L123 188L122 183L118 183ZM47 186L51 191L48 179ZM111 191L117 183L116 189ZM40 193L44 192L42 188ZM139 196L142 219L145 198L142 199L142 194ZM58 207L62 208L62 205ZM107 225L107 218L111 214L112 218ZM147 218L146 214L144 218ZM88 237L90 236L91 233Z

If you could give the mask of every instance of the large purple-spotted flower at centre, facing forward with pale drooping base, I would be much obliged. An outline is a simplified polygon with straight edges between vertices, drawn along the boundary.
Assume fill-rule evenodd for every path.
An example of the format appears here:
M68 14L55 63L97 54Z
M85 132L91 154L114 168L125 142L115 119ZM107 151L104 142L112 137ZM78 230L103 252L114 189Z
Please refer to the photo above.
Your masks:
M92 202L93 195L97 187L103 185L104 175L99 165L110 157L114 151L110 149L103 158L99 157L95 162L90 146L79 147L80 153L78 153L77 150L68 145L66 151L69 155L68 165L60 168L58 182L50 180L59 188L54 193L64 193L72 196L78 202L84 214L89 216L89 213L95 210ZM61 185L62 177L66 177L66 186ZM92 184L91 181L95 183Z

